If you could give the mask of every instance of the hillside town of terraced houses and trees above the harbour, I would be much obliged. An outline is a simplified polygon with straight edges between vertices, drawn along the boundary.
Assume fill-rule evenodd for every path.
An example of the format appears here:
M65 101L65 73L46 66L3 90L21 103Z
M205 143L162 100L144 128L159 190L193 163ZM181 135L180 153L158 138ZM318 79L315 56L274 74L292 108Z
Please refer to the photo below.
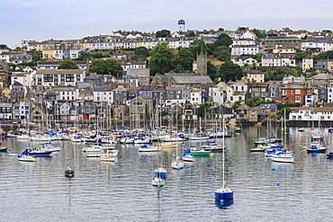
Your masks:
M257 124L286 110L291 122L330 124L332 31L191 31L184 20L177 24L173 32L0 45L1 123L98 118L130 126L174 111L187 123L224 115L229 123Z

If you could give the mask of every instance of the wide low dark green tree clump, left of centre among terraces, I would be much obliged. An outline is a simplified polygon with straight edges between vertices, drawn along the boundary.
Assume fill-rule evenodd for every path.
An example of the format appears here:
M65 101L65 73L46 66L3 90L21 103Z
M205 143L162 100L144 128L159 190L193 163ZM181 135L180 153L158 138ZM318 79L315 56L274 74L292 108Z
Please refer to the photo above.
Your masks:
M89 67L89 72L98 75L117 75L122 74L122 67L119 61L112 58L94 59Z

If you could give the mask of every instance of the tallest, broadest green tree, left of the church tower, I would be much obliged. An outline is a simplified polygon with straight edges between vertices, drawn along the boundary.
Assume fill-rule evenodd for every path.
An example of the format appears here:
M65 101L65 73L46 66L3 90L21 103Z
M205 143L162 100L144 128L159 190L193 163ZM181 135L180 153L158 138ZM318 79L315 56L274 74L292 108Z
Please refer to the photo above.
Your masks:
M158 43L150 54L148 67L151 74L165 74L174 69L174 51L167 48L166 42Z

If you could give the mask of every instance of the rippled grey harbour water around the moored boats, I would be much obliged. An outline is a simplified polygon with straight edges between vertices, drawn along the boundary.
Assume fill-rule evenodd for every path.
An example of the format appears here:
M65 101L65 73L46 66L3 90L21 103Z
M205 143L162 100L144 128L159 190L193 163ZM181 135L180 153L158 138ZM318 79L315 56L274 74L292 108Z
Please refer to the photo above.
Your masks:
M19 163L1 153L0 220L332 221L333 161L325 154L307 154L299 148L301 133L291 131L294 164L273 163L263 153L251 153L258 138L256 127L226 138L226 181L235 191L234 201L226 206L214 200L222 182L219 153L196 158L179 171L170 166L175 149L150 154L118 144L122 156L108 164L87 158L81 151L84 145L68 141L52 142L61 151L40 157L37 163ZM4 145L11 153L20 153L31 142L7 138ZM64 176L68 147L76 173L71 179ZM151 185L157 162L168 172L160 189Z

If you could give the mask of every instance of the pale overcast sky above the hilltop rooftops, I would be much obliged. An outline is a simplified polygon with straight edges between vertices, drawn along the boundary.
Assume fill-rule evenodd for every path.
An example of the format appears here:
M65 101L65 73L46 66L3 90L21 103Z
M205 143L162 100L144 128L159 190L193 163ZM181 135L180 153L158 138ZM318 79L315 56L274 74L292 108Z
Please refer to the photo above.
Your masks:
M328 0L0 0L0 44L82 39L117 30L333 30Z

